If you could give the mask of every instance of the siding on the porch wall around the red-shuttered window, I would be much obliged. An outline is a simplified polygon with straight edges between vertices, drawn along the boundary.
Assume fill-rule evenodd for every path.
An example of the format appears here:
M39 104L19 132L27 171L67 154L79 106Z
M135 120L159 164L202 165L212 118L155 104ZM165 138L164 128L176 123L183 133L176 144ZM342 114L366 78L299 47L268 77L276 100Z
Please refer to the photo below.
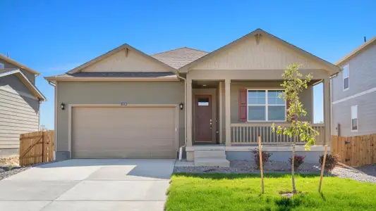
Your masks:
M231 82L231 123L239 122L239 89L280 89L281 82ZM307 115L302 117L302 121L313 122L313 87L308 87L301 94L301 102L303 103ZM257 122L254 122L257 123ZM265 122L262 122L265 123Z

